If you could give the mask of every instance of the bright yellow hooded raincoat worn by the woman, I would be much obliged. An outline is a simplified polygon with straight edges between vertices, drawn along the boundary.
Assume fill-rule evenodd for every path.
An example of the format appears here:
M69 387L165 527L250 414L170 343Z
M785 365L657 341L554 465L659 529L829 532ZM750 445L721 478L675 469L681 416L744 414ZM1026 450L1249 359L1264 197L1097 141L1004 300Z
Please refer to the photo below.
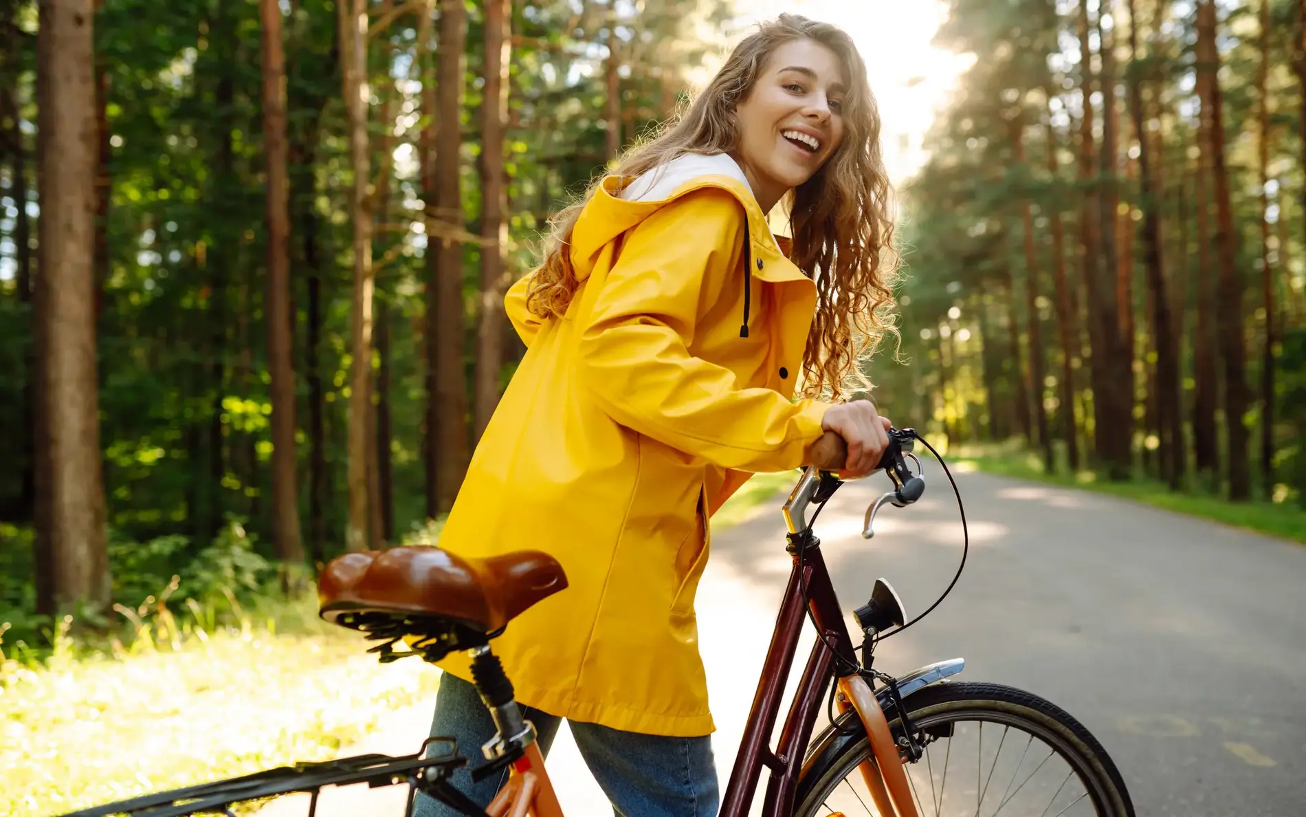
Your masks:
M816 288L729 169L657 200L624 200L609 176L573 231L567 315L530 314L525 278L505 298L528 350L440 545L538 549L567 571L492 644L517 699L552 715L714 729L693 613L704 510L754 472L802 465L821 434L828 404L790 399ZM470 678L461 655L440 665Z

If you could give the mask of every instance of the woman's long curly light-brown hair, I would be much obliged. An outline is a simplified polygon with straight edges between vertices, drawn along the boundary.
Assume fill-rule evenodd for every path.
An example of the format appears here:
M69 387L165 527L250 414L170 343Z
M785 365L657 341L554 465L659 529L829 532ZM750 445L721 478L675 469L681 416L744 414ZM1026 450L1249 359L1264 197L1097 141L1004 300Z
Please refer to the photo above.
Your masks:
M731 153L739 142L735 106L757 80L767 59L795 39L815 41L838 56L849 89L844 99L844 141L802 186L786 196L793 246L790 260L815 281L816 315L803 353L801 392L844 399L868 390L861 362L885 335L896 335L892 187L880 150L880 115L853 39L837 26L797 14L759 25L741 42L707 88L658 132L622 156L609 173L635 178L686 153ZM528 288L528 307L541 318L562 316L576 292L571 234L602 178L550 220L545 260Z

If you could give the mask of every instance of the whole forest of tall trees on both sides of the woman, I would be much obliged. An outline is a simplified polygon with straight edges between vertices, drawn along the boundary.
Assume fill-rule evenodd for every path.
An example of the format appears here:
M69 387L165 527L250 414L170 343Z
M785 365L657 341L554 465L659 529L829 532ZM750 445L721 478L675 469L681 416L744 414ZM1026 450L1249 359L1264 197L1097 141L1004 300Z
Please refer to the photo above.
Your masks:
M1306 505L1306 0L947 5L883 413ZM734 7L3 0L0 648L432 536L504 290Z

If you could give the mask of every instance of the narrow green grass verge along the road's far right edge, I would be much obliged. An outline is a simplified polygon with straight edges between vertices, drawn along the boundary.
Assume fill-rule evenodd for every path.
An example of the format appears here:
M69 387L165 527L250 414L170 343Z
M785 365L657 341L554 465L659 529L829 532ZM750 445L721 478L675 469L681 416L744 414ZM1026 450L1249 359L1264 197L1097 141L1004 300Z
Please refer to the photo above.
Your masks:
M1147 476L1135 476L1124 482L1111 482L1092 471L1080 471L1074 475L1067 471L1047 473L1043 469L1040 452L1007 443L963 446L948 456L948 461L949 465L956 463L963 469L973 468L998 476L1111 494L1168 511L1200 516L1235 528L1306 544L1306 509L1293 502L1235 503L1213 494L1173 492L1164 482Z

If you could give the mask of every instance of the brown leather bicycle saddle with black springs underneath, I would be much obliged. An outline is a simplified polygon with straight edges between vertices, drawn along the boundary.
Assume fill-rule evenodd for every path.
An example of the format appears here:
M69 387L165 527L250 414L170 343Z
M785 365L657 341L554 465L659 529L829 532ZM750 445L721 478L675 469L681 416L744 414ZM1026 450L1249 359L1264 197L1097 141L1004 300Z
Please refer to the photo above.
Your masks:
M428 545L346 553L317 580L319 614L372 638L426 643L427 660L486 643L512 618L567 587L551 556L517 550L464 558ZM387 660L388 651L381 659Z

